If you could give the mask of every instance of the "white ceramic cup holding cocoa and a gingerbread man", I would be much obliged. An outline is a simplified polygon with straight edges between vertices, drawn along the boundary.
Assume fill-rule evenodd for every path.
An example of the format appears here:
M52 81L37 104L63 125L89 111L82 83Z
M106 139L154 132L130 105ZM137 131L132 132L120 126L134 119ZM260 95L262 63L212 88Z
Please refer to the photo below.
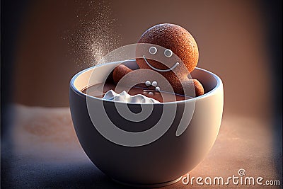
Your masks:
M125 147L110 142L93 126L87 108L86 94L81 92L83 88L91 85L88 79L93 69L98 69L97 73L101 73L96 75L96 81L103 82L105 80L103 73L109 73L116 64L118 62L91 67L71 79L69 90L71 117L83 150L100 171L120 183L154 187L179 181L181 176L200 164L215 142L224 105L221 79L212 72L196 68L191 76L203 84L206 93L194 98L195 111L190 122L187 122L188 127L185 132L180 136L175 134L184 105L190 105L192 99L186 100L187 103L176 102L175 120L162 137L140 147ZM134 61L130 64L132 67L137 67ZM89 96L88 98L93 98L93 105L103 101L101 98ZM105 108L113 108L113 104L108 101ZM154 108L158 109L158 105L154 104ZM155 116L154 114L155 112L151 116ZM120 125L127 127L127 122L122 121ZM132 127L143 127L143 125L132 125Z

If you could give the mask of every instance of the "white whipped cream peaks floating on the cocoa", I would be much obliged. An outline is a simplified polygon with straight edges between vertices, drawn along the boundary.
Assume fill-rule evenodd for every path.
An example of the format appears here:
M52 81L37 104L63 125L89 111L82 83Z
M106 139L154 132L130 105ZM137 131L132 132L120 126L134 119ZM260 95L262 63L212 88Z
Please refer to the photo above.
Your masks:
M149 98L147 96L137 94L137 95L130 95L126 91L122 91L122 93L118 94L115 91L110 90L103 96L103 99L108 101L118 101L118 102L125 102L125 103L160 103L156 101L154 98Z

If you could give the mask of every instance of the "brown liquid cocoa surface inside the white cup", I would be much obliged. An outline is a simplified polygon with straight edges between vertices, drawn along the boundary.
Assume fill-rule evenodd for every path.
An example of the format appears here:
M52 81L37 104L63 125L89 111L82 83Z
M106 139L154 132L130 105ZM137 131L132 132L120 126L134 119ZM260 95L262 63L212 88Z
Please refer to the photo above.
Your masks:
M113 90L116 93L121 93L122 91L127 91L127 88L120 88L119 91L115 90L115 84L112 83L105 83L103 84L96 84L93 86L88 86L87 88L84 88L82 90L83 93L88 94L88 96L94 96L98 98L103 98L105 93L107 93L109 90ZM175 93L168 93L165 91L154 91L151 88L144 88L140 86L134 86L132 87L128 93L132 96L137 95L137 94L142 94L144 96L147 96L149 98L154 98L156 101L159 101L161 103L163 102L174 102L174 101L183 101L186 99L189 99L191 97L175 94ZM164 100L163 100L164 99Z

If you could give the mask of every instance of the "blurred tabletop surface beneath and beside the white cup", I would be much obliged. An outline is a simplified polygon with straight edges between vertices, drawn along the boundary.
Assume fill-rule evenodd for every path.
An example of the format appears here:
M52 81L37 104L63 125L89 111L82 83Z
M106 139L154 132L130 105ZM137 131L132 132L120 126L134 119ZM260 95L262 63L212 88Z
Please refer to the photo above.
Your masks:
M129 188L113 182L94 166L81 149L69 108L13 105L13 124L1 139L1 186L3 188ZM205 178L236 175L282 180L274 151L270 122L224 115L214 147L190 176ZM261 185L260 188L263 188ZM184 185L164 188L244 188L245 185ZM249 186L250 188L251 186ZM258 188L254 185L253 188Z

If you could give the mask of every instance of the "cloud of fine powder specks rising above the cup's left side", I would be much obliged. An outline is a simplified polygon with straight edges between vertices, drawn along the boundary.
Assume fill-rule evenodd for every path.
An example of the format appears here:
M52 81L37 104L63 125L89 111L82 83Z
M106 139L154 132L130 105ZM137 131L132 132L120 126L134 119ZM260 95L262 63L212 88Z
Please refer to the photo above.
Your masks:
M97 64L120 43L109 2L75 1L76 24L67 31L69 53L81 69Z

